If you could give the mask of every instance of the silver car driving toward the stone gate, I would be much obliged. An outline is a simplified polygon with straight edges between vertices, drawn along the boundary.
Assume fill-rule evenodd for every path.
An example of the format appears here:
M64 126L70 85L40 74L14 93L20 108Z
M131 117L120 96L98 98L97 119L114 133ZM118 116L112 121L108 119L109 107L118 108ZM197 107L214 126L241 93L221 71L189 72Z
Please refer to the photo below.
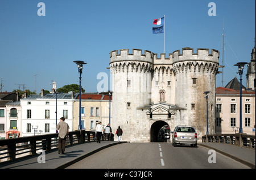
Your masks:
M193 126L176 126L172 133L172 145L191 144L197 147L197 133Z

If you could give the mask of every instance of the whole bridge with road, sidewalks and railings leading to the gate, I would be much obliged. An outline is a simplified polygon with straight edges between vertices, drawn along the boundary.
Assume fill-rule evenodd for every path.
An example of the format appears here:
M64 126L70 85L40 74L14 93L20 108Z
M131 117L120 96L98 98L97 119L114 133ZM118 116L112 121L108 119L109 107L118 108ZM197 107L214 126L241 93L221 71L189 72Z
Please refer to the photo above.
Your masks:
M63 168L252 168L255 169L255 136L216 134L203 136L196 148L171 143L94 141L93 131L72 131L64 155L57 153L58 134L0 140L1 169ZM211 150L211 151L210 151ZM217 163L214 161L214 153ZM106 166L108 156L121 165ZM119 157L120 156L120 157ZM102 157L106 157L104 160ZM150 157L150 158L148 158ZM179 159L178 159L179 158ZM191 161L191 164L189 164ZM93 163L91 163L92 161ZM98 161L98 162L97 162ZM223 161L223 162L222 162ZM215 163L215 165L214 165ZM94 166L87 166L95 164ZM115 163L112 163L115 164ZM118 164L118 162L117 162ZM175 165L175 166L174 166Z

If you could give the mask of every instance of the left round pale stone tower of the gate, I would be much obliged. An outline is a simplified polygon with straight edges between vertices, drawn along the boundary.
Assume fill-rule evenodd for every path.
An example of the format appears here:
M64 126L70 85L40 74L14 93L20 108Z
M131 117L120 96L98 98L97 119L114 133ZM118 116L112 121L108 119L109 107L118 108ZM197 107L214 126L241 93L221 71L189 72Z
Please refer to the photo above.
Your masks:
M110 52L112 73L113 120L115 133L118 126L123 130L122 140L148 142L150 137L146 110L151 102L151 76L154 66L153 53L141 49L121 49ZM139 132L138 132L139 129ZM115 136L115 138L117 138Z

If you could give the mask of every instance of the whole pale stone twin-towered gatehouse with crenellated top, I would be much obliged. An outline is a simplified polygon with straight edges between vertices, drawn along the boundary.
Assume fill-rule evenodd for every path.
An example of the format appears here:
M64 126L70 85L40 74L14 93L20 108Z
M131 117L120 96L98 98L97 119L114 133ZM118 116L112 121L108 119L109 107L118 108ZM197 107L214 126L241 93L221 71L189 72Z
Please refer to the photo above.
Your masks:
M183 48L168 55L141 49L110 52L113 85L113 129L122 140L156 142L160 128L192 125L199 138L206 133L208 97L209 134L214 132L217 50Z

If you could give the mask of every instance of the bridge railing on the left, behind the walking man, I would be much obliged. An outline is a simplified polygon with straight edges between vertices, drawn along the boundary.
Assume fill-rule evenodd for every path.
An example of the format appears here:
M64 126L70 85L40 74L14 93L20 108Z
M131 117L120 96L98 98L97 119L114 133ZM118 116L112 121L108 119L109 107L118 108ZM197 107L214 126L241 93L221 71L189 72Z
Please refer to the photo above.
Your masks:
M26 136L21 138L0 140L0 163L16 161L21 158L35 156L42 151L54 151L58 148L58 133ZM102 140L105 134L102 135ZM94 131L71 131L66 139L66 145L82 144L94 141Z

